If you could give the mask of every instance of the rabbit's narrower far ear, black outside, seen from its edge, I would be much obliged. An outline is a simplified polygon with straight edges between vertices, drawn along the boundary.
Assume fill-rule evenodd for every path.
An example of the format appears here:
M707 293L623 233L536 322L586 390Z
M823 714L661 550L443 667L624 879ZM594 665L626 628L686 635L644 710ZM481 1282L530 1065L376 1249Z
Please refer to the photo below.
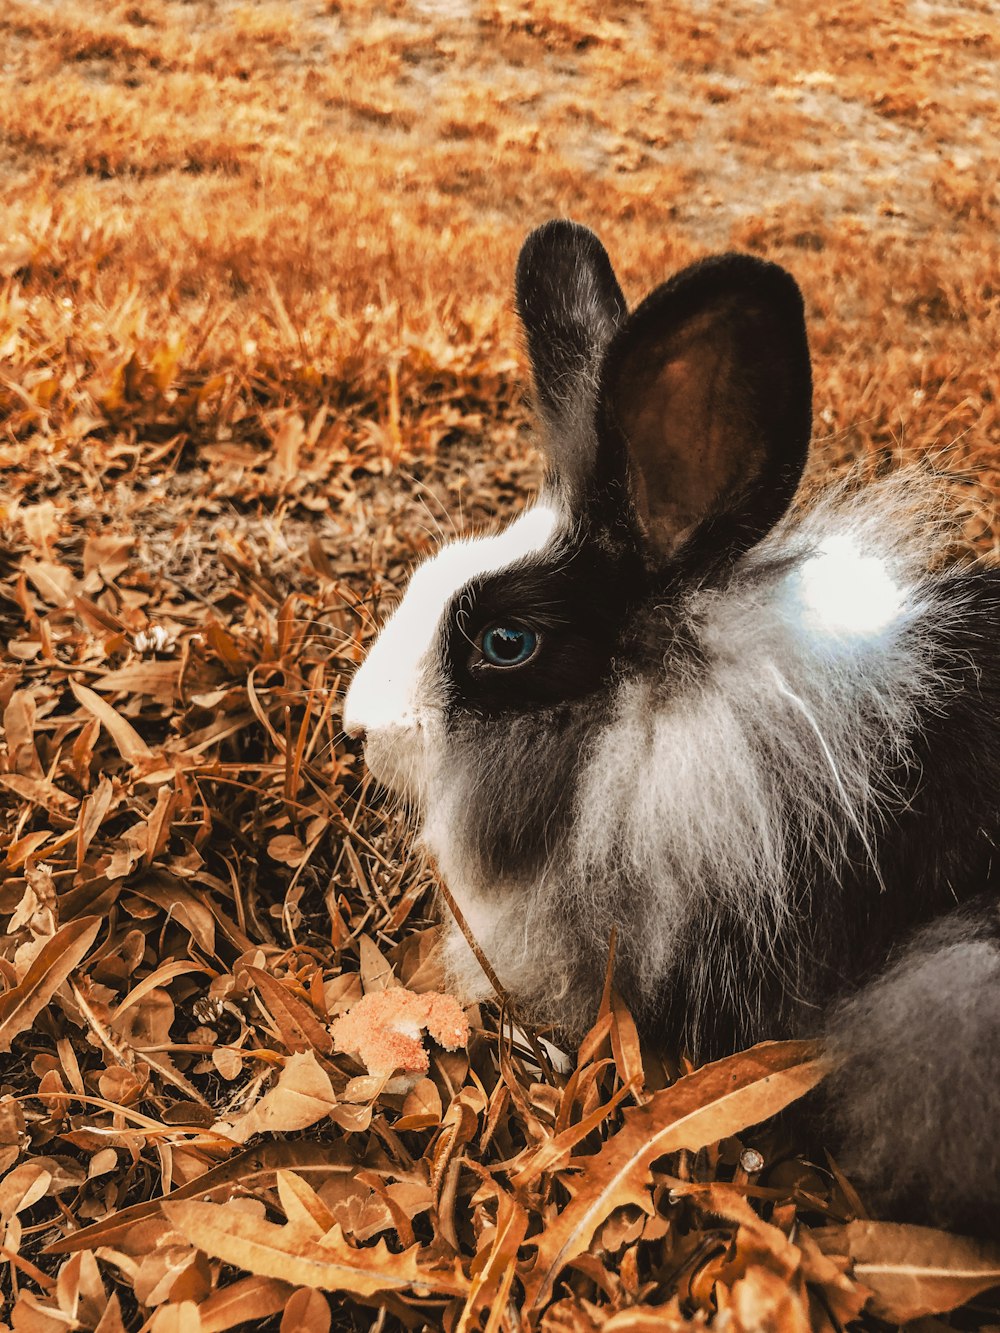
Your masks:
M597 452L600 364L625 321L625 299L593 232L564 220L545 223L528 236L517 260L515 293L549 473L571 497L579 497Z

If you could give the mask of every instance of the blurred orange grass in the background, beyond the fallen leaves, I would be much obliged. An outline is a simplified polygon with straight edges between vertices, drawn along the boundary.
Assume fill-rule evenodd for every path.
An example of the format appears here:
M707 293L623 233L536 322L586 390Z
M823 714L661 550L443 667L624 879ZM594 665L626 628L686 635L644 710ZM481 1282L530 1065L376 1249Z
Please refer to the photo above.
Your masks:
M268 447L289 404L325 457L520 416L516 251L568 215L629 300L727 247L791 268L820 468L948 449L991 544L988 0L8 0L0 40L0 409L56 468Z

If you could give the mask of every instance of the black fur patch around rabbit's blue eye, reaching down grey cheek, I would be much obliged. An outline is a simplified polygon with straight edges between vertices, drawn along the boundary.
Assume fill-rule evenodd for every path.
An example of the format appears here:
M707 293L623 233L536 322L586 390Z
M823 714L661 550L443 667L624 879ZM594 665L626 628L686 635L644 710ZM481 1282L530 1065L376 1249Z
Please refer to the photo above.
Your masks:
M584 525L555 553L473 580L455 597L447 725L468 782L464 838L489 873L536 873L565 832L579 756L604 716L604 686L620 670L644 587L637 544ZM477 639L509 620L537 631L536 657L484 669Z

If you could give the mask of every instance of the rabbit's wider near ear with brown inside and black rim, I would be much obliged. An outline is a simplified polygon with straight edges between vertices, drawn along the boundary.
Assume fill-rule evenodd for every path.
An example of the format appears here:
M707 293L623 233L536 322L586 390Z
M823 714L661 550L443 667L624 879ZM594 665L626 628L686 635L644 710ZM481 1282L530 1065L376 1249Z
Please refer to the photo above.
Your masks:
M613 472L624 447L633 503L659 555L725 561L791 504L811 411L795 280L775 264L723 255L657 288L608 348L601 452Z

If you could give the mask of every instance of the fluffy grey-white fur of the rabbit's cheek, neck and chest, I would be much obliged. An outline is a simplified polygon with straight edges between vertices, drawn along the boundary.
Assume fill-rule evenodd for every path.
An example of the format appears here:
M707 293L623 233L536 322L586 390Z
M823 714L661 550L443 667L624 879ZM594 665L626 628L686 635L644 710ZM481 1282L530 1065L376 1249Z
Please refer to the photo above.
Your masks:
M864 966L869 949L832 969L831 950L877 916L928 725L983 670L956 640L983 593L924 573L919 499L907 477L832 497L723 583L651 597L660 666L679 637L695 649L668 670L623 663L607 697L443 718L423 837L535 1013L585 1026L612 929L640 1018L700 1050L808 1026ZM915 881L900 916L947 893ZM457 929L448 961L488 992Z

